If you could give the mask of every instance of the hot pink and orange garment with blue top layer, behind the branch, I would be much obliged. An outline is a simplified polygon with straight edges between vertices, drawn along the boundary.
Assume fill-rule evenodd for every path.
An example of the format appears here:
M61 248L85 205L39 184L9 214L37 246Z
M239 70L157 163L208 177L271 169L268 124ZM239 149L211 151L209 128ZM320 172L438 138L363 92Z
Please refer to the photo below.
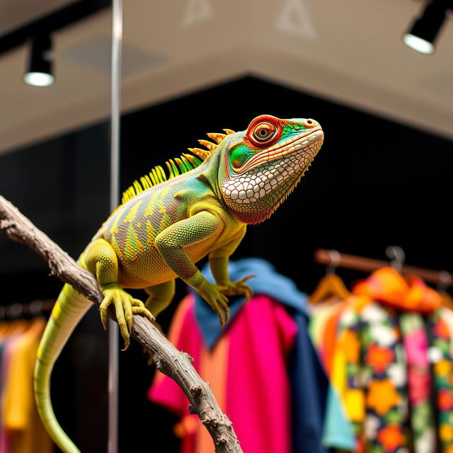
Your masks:
M209 270L203 272L212 282ZM229 264L231 280L248 274L258 276L248 280L255 295L245 305L243 298L231 297L225 328L192 293L178 307L168 338L193 357L197 372L210 382L244 452L323 453L328 382L307 333L306 296L263 260ZM157 373L148 396L180 415L176 430L183 435L183 453L213 451L207 431L188 413L188 400L171 379Z

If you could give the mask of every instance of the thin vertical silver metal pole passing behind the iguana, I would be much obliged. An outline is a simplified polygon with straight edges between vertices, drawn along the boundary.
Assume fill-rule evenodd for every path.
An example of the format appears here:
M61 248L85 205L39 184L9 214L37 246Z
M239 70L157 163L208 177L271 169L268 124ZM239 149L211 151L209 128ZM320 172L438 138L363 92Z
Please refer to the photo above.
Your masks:
M117 207L120 198L120 89L122 0L113 0L112 67L110 112L110 210ZM108 322L108 453L118 451L118 357L117 325Z

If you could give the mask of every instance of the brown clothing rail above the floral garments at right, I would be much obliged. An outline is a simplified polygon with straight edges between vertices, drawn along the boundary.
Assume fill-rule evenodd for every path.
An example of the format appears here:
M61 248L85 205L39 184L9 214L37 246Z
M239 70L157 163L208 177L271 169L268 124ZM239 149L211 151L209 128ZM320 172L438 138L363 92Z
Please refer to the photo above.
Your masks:
M389 266L389 261L348 255L348 253L329 251L323 248L318 248L314 252L314 260L319 264L331 265L338 268L363 270L365 272L373 272L374 270ZM423 278L425 282L445 285L445 287L453 286L453 275L445 270L431 270L402 265L401 273L418 275L418 277Z

